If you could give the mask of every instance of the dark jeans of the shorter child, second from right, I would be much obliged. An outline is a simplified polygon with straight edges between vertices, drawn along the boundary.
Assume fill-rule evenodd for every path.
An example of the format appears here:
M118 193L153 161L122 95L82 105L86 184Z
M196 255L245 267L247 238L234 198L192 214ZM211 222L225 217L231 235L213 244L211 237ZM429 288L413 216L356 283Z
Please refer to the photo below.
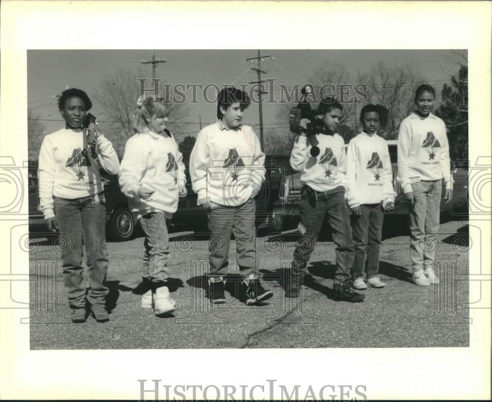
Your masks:
M367 263L367 278L379 271L379 247L383 232L384 210L381 203L360 205L361 215L351 215L352 236L355 245L353 279L364 276Z

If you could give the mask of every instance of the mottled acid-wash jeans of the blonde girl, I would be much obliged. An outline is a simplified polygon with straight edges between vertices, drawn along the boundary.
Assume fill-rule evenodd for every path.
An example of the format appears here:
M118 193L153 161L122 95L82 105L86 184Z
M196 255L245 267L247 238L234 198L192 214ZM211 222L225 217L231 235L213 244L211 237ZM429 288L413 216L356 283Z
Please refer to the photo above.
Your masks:
M169 277L169 234L166 217L162 212L152 212L142 216L138 222L145 233L144 271L153 282L164 282Z

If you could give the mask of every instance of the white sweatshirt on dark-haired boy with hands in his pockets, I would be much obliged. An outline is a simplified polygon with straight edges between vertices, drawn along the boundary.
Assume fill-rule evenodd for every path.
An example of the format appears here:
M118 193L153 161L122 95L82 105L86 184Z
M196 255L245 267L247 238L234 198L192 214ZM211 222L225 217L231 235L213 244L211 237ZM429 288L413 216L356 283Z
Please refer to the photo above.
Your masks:
M198 200L237 206L254 197L265 180L265 154L250 126L228 130L217 122L196 138L189 172Z

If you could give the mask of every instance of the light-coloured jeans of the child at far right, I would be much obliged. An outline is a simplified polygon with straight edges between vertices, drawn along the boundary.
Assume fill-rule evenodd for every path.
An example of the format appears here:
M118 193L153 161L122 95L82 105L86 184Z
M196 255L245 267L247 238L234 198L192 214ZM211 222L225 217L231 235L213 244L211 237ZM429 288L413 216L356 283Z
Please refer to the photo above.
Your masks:
M412 184L415 205L410 211L410 257L413 272L434 268L439 230L441 180Z

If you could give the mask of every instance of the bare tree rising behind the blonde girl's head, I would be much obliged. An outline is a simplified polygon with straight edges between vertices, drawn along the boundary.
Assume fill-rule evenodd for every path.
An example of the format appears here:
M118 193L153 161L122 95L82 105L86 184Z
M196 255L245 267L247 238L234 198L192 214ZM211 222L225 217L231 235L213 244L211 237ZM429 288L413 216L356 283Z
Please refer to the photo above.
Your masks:
M136 101L140 95L139 79L148 78L143 68L123 70L107 75L97 87L94 87L94 98L104 110L104 132L113 141L120 156L123 156L126 140L133 135L132 117L136 111ZM164 97L165 90L160 81L159 95ZM148 79L145 88L153 88L152 80ZM185 118L189 115L189 107L184 103L175 103L169 116L169 129L175 135L186 131ZM102 120L102 119L101 119Z

